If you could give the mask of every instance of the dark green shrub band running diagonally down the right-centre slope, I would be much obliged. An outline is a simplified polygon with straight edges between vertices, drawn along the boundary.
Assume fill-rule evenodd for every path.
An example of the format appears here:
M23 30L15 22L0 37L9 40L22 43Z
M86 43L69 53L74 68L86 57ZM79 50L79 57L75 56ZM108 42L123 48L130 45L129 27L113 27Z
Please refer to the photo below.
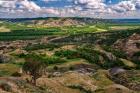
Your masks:
M97 64L98 66L108 69L115 66L124 66L124 64L119 60L109 60L105 54L102 54L98 51L93 50L92 48L80 48L78 49L78 53L81 58L88 60L92 64ZM103 57L104 62L100 62L99 56Z

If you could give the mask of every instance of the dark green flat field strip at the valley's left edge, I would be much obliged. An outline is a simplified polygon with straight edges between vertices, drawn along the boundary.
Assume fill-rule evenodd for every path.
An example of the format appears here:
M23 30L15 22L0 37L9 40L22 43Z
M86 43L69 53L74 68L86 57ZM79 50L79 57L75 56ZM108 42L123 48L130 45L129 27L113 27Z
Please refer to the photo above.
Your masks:
M60 33L58 30L50 30L50 29L22 29L22 30L12 30L11 32L1 32L0 33L0 40L28 40L28 39L38 39L43 36L48 35L59 35L63 34Z

